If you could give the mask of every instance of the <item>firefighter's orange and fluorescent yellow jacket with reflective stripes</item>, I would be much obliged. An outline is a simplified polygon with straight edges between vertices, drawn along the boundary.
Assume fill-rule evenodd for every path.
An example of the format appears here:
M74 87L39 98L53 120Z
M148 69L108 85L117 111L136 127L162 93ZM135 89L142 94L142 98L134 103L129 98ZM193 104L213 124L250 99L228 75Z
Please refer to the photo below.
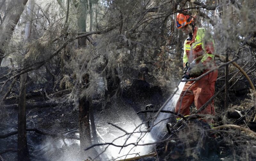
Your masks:
M214 40L211 35L205 35L205 28L195 27L193 38L184 42L183 67L187 62L192 62L197 57L204 55L201 62L205 64L214 60Z

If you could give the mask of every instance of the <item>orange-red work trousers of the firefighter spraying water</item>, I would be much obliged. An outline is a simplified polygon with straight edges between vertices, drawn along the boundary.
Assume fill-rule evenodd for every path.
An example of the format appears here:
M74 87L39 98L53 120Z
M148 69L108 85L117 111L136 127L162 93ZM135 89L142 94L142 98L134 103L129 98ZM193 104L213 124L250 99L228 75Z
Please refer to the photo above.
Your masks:
M181 115L189 115L189 106L195 101L196 108L199 109L208 101L215 93L215 82L218 76L218 71L209 73L208 75L196 81L191 87L193 82L187 82L182 89L180 98L177 101L175 112ZM188 89L188 90L187 90ZM215 115L214 101L207 105L200 114Z

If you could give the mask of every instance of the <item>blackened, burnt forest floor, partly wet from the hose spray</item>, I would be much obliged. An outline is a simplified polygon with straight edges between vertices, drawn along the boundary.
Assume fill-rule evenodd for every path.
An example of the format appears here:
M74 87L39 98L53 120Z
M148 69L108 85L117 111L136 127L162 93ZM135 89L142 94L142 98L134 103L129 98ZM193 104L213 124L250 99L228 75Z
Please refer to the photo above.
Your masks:
M241 106L248 108L250 105L250 103L248 103L248 99L250 98L247 96L248 89L242 88L241 84L237 87L242 89L238 94L237 91L239 90L230 93L230 99L231 101L233 100L233 105L236 105L237 107L239 106L240 109ZM217 82L216 90L218 90L220 87L220 82ZM28 90L31 91L31 89ZM136 112L145 110L145 106L148 104L154 104L154 109L160 108L169 96L169 92L170 91L164 90L163 88L161 89L157 86L149 86L149 84L145 84L145 82L135 80L130 86L124 88L121 97L116 98L111 103L107 103L105 107L102 106L100 99L94 100L93 107L95 124L98 135L101 135L101 137L99 137L99 141L104 139L104 142L111 142L115 136L123 133L107 122L113 123L119 127L123 127L124 130L128 130L126 129L128 127L126 125L136 125L145 120L143 115L138 116ZM215 106L221 107L223 105L223 99L221 99L221 97L222 95L215 99ZM8 116L5 118L4 124L1 124L0 126L2 134L16 130L18 124L18 109L17 106L12 106L12 104L15 103L17 103L17 100L15 99L7 99L6 101L6 105L9 106L5 108L4 112L5 114L8 114ZM41 105L40 107L27 106L26 116L27 127L29 128L41 129L56 134L71 129L78 129L78 110L72 105L64 106L63 103L60 102L50 102L44 94L40 94L39 92L37 92L37 94L34 96L30 95L30 97L27 98L27 104ZM217 115L221 115L223 110L218 108L216 113ZM192 126L195 125L198 125L198 123L196 122L196 124L193 124ZM184 128L184 130L185 131L183 131L183 133L186 133L187 129ZM186 138L194 138L194 134L195 133L193 133L193 136L186 136ZM193 146L194 148L198 148L198 138L200 138L202 134L198 133L197 135L198 136L196 139L194 139L192 144L190 142L188 143L191 145L190 149L193 149ZM157 144L157 157L147 157L140 160L200 160L201 157L209 160L221 160L221 158L225 158L225 160L233 160L234 157L238 155L234 154L234 151L239 151L239 149L232 150L232 148L224 147L224 145L220 146L219 144L223 140L221 137L219 137L219 139L203 137L203 140L201 140L203 141L203 145L200 145L201 147L195 152L193 150L184 149L186 146L184 147L184 144L180 143L181 138L178 138L178 140L177 138L174 138L173 140ZM30 154L33 156L32 160L49 159L73 161L82 159L77 157L79 156L78 154L80 148L79 143L76 140L65 139L64 141L67 144L65 145L64 141L60 137L54 138L52 136L45 136L36 132L28 132L27 140L28 149ZM195 141L197 143L195 143ZM208 148L205 148L206 144ZM3 151L4 149L16 149L17 135L0 139L0 145L0 151ZM211 147L209 147L209 145L211 145ZM109 149L109 151L115 150L111 148ZM184 152L182 152L182 150L191 153L191 155L184 156ZM106 151L106 153L109 151ZM166 153L166 151L168 153ZM110 155L112 154L106 154L108 157ZM7 152L1 156L6 160L17 160L17 155L15 152ZM116 159L115 157L112 158Z

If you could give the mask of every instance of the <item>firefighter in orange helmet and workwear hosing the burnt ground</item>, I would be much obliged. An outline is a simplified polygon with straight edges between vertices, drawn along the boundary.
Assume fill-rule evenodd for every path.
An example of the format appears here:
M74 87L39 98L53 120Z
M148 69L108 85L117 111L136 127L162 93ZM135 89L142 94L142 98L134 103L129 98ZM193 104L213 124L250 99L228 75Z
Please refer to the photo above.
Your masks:
M214 41L211 38L211 34L207 34L205 28L198 28L194 22L194 17L182 13L177 14L176 27L188 35L188 38L184 42L183 72L185 75L183 78L196 78L216 67ZM193 65L194 67L190 65L188 68L189 63L192 63L198 57L202 57L202 59L198 59L196 65ZM199 81L196 81L192 86L191 84L193 82L188 81L182 89L175 107L175 112L188 116L190 114L189 106L193 101L195 101L197 109L203 106L215 93L217 76L218 71L215 70ZM215 115L213 100L200 114Z

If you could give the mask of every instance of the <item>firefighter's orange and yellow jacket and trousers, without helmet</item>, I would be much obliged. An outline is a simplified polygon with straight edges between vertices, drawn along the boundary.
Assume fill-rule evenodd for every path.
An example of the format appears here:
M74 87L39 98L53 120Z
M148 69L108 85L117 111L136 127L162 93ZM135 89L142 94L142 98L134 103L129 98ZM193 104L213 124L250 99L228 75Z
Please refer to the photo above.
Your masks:
M201 62L206 68L204 73L216 67L214 59L214 41L210 37L210 35L205 35L204 28L195 27L192 39L187 39L184 43L183 66L185 66L187 62L191 63L194 59L203 55ZM205 38L208 38L208 40ZM217 76L218 71L215 70L199 81L196 81L192 86L191 84L193 82L187 82L177 101L175 112L185 116L189 115L189 106L193 101L195 101L197 109L203 106L215 93ZM213 100L200 113L215 115Z

